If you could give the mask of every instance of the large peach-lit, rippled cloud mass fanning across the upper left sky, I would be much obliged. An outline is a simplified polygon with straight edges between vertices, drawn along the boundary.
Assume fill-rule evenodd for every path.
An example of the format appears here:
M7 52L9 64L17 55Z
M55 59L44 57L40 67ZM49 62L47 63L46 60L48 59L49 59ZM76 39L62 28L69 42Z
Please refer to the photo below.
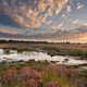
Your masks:
M58 15L66 3L67 0L2 0L1 9L20 27L36 28Z

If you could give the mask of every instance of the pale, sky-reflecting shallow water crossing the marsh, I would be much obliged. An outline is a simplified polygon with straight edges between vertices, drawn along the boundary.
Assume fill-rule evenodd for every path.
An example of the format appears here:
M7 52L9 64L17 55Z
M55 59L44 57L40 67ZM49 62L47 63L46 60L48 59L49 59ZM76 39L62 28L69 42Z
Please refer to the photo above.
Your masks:
M0 62L7 61L7 62L12 62L12 61L28 61L28 60L36 60L36 61L52 61L57 62L57 64L69 64L69 65L78 65L78 64L87 64L86 60L76 60L73 57L63 57L63 55L48 55L45 52L28 52L24 51L22 53L17 53L16 50L10 50L10 53L4 53L3 49L0 49Z

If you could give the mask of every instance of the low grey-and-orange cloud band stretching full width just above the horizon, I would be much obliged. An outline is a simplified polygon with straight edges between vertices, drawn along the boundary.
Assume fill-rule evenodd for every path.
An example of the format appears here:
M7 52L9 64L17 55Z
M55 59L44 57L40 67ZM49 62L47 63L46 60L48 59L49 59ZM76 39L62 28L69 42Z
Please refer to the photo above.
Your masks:
M8 30L0 28L0 38L5 39L23 39L23 40L48 40L48 41L85 41L87 39L87 24L84 23L80 27L72 29L62 29L63 23L53 26L50 32L26 35L16 30Z

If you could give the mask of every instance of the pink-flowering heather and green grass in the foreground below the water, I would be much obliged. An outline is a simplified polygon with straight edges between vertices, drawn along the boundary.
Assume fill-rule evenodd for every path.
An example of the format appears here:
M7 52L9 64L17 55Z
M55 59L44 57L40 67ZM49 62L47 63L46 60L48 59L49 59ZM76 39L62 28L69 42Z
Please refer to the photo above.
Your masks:
M34 60L1 65L0 87L87 87L87 71Z

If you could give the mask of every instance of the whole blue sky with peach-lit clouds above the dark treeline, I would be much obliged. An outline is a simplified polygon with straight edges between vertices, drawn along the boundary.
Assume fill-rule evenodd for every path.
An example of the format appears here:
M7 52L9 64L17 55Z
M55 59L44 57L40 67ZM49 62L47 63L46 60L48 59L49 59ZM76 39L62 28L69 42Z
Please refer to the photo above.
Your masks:
M0 39L87 42L87 0L0 0Z

